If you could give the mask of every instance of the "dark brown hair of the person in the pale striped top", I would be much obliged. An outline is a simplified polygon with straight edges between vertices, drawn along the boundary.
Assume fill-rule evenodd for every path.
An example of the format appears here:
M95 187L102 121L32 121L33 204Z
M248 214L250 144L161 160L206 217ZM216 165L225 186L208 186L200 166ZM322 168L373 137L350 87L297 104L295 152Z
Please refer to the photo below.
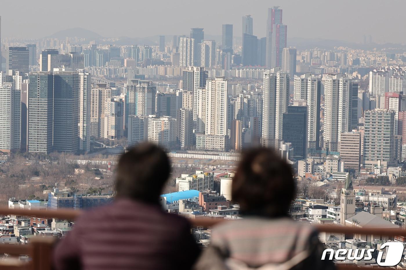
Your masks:
M292 167L268 148L242 154L233 178L232 198L245 214L284 216L294 199Z

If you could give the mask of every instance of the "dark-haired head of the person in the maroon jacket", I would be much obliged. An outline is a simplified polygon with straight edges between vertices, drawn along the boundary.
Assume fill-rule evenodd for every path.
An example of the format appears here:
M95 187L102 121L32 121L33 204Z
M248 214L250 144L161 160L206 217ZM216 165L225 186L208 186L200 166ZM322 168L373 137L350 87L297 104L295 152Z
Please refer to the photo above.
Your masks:
M170 170L164 150L149 143L138 144L119 159L117 197L158 203Z

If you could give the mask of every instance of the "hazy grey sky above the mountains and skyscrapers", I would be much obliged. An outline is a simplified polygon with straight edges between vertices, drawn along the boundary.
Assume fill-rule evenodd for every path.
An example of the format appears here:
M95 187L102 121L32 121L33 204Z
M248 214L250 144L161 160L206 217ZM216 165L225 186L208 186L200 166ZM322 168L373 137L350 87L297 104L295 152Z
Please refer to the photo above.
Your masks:
M288 37L360 42L406 43L404 0L19 0L1 1L2 37L42 38L82 27L102 36L147 37L189 34L204 28L220 35L221 24L233 24L241 36L241 17L251 14L254 35L266 35L267 9L283 9Z

